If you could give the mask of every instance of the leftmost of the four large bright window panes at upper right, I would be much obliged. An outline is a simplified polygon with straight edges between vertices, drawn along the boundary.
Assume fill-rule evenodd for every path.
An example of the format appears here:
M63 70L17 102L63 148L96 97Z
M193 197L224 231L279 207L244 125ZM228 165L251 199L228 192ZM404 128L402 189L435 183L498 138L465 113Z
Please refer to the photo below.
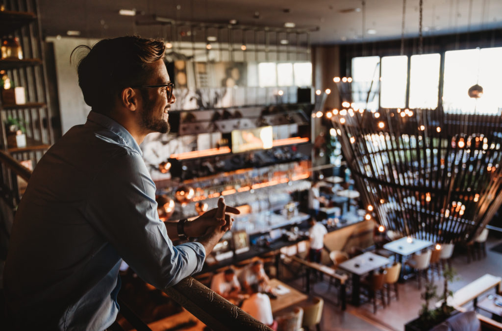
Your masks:
M378 109L379 77L380 56L352 58L352 102L355 108Z

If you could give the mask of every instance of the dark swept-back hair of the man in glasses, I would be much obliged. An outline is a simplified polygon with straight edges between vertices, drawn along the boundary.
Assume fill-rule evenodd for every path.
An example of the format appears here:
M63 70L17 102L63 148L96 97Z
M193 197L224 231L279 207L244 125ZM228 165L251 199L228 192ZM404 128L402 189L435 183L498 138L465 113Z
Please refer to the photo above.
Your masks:
M78 61L78 84L85 103L102 111L123 88L145 84L152 74L147 64L164 57L165 45L161 40L127 36L103 39L92 47L77 46L71 56L80 50L87 53Z

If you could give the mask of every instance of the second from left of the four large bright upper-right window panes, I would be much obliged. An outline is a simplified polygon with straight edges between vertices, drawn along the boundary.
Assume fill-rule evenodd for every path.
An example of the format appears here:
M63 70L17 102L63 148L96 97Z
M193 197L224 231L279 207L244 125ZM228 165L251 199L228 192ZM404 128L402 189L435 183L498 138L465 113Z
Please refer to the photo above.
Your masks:
M408 57L386 56L382 58L382 90L380 104L385 108L406 106L406 80Z

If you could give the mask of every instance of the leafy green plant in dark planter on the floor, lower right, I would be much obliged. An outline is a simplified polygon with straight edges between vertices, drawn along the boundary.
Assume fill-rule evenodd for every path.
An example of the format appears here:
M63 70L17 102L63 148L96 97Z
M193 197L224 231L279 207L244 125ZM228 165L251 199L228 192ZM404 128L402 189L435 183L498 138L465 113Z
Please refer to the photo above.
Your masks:
M429 330L454 314L455 309L448 305L447 299L453 295L453 292L448 287L448 283L455 279L455 275L456 272L452 268L445 267L443 270L443 292L439 296L436 294L437 286L434 283L427 282L425 284L425 291L421 295L425 303L422 305L418 318L405 325L406 331ZM430 309L430 301L434 298L440 299L441 306Z

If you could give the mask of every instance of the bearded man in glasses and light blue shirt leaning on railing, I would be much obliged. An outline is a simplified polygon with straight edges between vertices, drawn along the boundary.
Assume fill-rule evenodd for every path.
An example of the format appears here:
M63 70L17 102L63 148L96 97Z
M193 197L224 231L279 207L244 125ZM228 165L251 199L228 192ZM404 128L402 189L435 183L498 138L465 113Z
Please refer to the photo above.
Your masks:
M19 329L107 328L122 259L157 288L172 286L201 270L231 228L225 212L238 213L220 199L193 222L160 222L139 145L169 131L176 97L164 43L121 37L84 48L78 79L92 111L40 160L16 212L4 288ZM185 235L199 241L172 245Z

